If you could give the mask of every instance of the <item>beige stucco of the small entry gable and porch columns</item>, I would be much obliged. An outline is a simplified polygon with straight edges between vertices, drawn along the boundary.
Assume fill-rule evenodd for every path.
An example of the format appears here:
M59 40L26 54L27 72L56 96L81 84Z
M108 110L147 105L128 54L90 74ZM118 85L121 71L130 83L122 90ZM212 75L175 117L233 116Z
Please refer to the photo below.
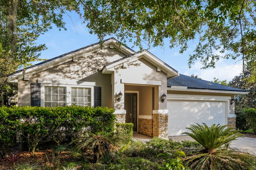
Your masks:
M115 87L115 91L113 92L113 97L115 98L113 107L115 109L124 109L124 98L122 98L120 102L116 100L116 94L118 94L119 91L124 92L124 83L121 83L121 80L125 80L126 82L139 82L140 80L161 81L161 85L157 86L154 90L154 108L156 110L167 108L166 102L161 103L162 94L164 92L165 94L167 93L167 74L163 71L158 72L157 67L146 59L141 58L134 62L128 63L127 68L118 67L112 74L114 74L112 75L112 79L114 79L112 80L112 85ZM150 93L148 95L150 95ZM152 90L150 99L152 100ZM152 105L149 105L148 107L152 110ZM141 114L146 114L146 112L141 112Z

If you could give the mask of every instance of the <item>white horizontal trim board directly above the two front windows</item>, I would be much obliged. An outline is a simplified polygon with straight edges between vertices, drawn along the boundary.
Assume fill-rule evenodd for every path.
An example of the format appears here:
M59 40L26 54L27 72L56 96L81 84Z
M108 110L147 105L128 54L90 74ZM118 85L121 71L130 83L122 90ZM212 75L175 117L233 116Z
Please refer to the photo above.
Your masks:
M61 84L61 85L87 85L87 86L96 86L96 82L90 82L90 81L63 81L63 80L37 79L37 83L42 83L42 84Z

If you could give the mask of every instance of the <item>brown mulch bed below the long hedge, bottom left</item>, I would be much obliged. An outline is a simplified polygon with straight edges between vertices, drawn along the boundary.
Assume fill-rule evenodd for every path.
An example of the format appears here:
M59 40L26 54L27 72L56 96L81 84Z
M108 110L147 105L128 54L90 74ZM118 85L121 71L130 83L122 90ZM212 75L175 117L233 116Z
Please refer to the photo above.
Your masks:
M45 167L52 167L52 150L40 150L35 153L35 157L31 157L29 152L19 152L19 155L21 156L20 159L15 163L17 164L22 164L22 163L37 163L38 166L40 166L42 169ZM47 159L47 157L49 159ZM57 158L57 156L56 156ZM75 162L76 160L74 157L70 156L68 153L63 153L61 154L61 159L60 162ZM0 170L9 170L13 166L9 161L1 161L0 160Z

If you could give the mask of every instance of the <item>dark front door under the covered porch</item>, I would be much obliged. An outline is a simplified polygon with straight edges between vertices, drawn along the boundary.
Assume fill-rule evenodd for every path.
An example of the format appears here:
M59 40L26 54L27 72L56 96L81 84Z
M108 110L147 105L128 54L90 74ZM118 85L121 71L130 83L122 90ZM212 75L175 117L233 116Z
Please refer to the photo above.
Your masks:
M126 110L126 123L134 124L134 132L137 131L137 93L124 94L124 109Z

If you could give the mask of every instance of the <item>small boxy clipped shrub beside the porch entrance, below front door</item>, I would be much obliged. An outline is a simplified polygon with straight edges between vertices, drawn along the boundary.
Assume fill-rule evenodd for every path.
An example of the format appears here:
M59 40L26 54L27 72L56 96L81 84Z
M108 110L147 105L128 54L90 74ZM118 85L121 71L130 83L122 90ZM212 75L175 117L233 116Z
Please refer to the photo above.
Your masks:
M127 136L129 139L132 139L133 123L117 123L115 126L117 135Z

